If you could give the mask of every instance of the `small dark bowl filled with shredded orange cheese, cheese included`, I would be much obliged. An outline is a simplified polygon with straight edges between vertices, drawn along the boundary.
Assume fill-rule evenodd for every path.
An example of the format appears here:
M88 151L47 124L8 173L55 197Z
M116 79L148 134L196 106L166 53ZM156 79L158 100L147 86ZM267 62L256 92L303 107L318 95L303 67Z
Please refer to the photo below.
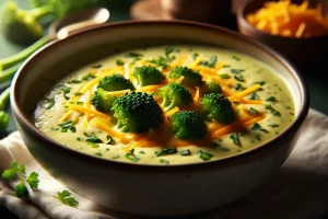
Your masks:
M254 0L237 10L239 32L260 41L297 66L327 57L328 1Z

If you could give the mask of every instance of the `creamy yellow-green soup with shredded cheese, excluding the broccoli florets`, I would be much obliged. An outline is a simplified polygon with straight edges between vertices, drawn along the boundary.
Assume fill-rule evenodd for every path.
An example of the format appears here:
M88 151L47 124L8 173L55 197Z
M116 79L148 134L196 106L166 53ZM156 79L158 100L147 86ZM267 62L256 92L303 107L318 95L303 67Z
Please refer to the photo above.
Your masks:
M154 66L165 79L140 85L136 67ZM186 78L169 78L172 69L185 66L199 73L200 85L186 87L192 97L187 106L165 111L157 89L185 84ZM94 107L94 93L105 77L121 74L136 92L153 96L163 112L159 129L136 134L118 127L112 108ZM209 81L221 85L236 119L220 124L202 112L201 99ZM113 92L121 99L129 90ZM116 100L116 101L117 101ZM173 134L173 116L195 111L206 123L204 139L179 139ZM237 51L210 46L159 46L121 53L82 67L58 82L35 111L35 125L45 135L74 150L109 160L142 164L183 164L232 157L256 148L283 131L294 119L294 102L284 80L266 64Z

